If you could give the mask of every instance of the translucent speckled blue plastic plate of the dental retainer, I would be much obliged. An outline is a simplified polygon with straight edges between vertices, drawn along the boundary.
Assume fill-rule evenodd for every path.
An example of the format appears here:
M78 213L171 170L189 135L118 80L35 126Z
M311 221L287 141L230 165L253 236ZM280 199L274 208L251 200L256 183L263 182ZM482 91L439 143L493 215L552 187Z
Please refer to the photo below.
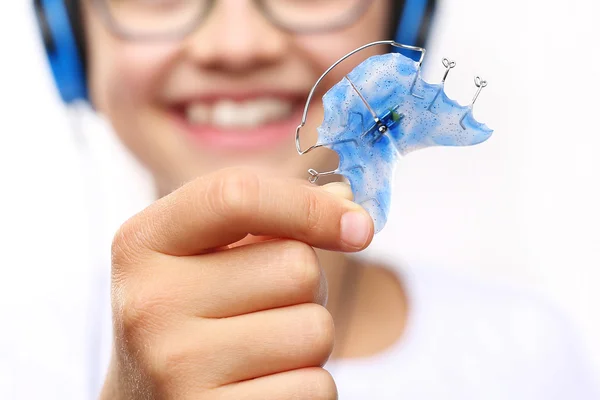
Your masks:
M492 134L475 120L471 106L449 99L442 84L423 81L417 62L399 53L361 63L325 94L323 105L317 144L338 153L336 173L350 181L376 232L387 221L400 156L430 146L474 145Z

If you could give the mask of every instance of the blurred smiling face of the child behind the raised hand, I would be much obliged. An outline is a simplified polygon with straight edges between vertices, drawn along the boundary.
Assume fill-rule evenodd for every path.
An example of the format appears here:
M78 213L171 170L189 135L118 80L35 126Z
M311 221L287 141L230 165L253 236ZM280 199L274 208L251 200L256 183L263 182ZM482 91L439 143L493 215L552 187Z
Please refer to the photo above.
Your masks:
M136 41L112 34L97 7L85 3L92 102L162 193L236 165L294 177L305 177L309 167L335 168L328 150L296 153L294 133L308 92L341 56L389 39L391 31L389 1L371 2L342 29L293 34L269 22L253 1L219 0L184 39ZM316 141L323 93L381 50L367 49L328 75L302 130L303 147Z

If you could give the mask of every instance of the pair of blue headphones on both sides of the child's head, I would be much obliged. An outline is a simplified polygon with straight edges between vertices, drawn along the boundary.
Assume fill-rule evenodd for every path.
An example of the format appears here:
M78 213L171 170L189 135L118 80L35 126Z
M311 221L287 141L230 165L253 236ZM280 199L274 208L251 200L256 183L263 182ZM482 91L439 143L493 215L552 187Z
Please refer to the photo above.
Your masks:
M66 104L89 101L84 38L79 2L81 0L33 0L46 55L60 97ZM402 5L402 3L404 3ZM436 0L397 0L399 8L396 41L423 46L435 10ZM417 59L418 54L405 54Z

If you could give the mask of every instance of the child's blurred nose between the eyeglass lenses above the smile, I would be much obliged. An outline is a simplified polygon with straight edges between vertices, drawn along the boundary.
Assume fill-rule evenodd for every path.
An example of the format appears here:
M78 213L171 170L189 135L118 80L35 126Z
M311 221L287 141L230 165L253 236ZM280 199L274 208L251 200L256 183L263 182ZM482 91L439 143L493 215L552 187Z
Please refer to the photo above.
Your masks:
M204 68L241 71L277 62L289 34L268 21L251 0L216 1L187 39L187 54Z

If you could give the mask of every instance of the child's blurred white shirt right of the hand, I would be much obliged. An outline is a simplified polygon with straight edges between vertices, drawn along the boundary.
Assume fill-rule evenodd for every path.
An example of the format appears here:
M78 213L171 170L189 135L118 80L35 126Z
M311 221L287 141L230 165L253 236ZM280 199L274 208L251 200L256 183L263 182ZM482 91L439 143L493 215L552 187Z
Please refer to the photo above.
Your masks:
M340 399L600 399L570 324L540 299L441 270L399 275L405 334L330 362Z

